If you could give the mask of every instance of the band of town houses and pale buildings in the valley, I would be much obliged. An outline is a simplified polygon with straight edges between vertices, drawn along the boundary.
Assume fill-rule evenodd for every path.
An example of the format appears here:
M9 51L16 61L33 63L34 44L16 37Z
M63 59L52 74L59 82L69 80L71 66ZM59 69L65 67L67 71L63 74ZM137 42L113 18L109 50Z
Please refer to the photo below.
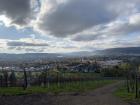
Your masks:
M76 62L73 64L67 63L48 63L45 65L40 65L37 67L18 67L18 66L10 66L10 67L0 67L0 71L7 70L7 71L43 71L43 70L53 70L53 69L61 69L65 71L71 71L71 72L94 72L96 70L102 69L102 68L111 68L117 65L120 65L123 63L121 60L106 60L106 61L93 61L93 60L82 60L80 62Z

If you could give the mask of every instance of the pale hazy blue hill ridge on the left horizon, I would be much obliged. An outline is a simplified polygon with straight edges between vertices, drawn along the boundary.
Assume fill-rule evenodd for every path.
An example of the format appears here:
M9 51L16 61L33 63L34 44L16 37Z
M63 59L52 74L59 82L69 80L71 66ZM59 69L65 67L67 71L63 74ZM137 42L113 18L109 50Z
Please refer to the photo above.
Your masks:
M60 60L62 58L92 56L93 52L81 51L72 53L25 53L8 54L0 53L0 61L39 61L39 60Z

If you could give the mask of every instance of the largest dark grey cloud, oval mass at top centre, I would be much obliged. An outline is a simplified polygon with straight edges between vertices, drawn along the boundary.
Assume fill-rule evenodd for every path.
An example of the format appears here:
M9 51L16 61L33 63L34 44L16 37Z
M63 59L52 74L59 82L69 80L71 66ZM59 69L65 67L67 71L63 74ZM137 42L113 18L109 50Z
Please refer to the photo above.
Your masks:
M39 28L57 37L64 37L110 22L118 16L109 5L111 1L69 0L44 15Z

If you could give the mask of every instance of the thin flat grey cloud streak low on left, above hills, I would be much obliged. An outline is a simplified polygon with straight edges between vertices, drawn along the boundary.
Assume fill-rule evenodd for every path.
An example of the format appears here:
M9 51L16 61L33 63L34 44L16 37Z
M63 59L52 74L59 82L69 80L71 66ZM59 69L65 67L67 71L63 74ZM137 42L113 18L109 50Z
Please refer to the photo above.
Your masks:
M46 43L28 43L28 42L19 42L19 41L11 41L11 42L7 42L7 46L37 46L37 47L41 47L41 46L49 46Z

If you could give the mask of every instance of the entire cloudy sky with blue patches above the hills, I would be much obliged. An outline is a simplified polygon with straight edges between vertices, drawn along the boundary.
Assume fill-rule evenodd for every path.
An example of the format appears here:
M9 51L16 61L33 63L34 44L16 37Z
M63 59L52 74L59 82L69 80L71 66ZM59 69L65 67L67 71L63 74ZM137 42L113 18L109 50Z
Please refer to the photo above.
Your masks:
M140 46L140 0L0 0L0 53Z

